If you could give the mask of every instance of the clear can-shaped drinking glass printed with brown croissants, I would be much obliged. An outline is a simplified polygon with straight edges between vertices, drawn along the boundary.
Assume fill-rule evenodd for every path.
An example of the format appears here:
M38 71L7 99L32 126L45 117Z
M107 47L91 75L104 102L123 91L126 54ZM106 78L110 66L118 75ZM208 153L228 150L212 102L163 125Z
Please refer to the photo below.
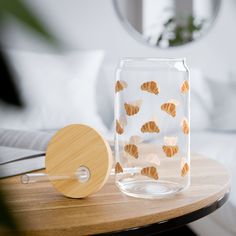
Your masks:
M114 107L116 184L121 191L161 198L190 185L189 96L184 59L121 60Z

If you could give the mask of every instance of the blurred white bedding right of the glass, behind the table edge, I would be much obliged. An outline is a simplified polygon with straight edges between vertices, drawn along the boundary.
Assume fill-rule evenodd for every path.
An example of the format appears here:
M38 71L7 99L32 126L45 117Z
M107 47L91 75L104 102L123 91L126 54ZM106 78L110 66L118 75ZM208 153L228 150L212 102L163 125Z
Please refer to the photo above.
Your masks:
M191 151L219 161L231 174L229 201L213 214L190 224L191 228L201 236L236 235L236 133L193 132Z

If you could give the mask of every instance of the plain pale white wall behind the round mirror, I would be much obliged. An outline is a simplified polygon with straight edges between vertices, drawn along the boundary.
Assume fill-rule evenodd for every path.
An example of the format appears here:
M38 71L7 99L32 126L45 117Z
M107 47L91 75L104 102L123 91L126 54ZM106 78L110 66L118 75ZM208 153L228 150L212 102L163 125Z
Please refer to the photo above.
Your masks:
M25 0L52 32L69 47L104 49L106 61L124 56L187 57L189 66L210 76L224 79L236 74L236 1L223 0L211 31L201 40L175 49L161 50L142 45L126 32L111 0ZM39 50L39 40L30 39L21 27L6 27L7 47Z

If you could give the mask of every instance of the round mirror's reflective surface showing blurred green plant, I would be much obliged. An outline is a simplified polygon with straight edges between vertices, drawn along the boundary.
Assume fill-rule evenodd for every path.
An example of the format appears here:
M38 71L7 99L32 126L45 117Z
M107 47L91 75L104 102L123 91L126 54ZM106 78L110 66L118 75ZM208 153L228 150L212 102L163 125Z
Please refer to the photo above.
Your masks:
M139 41L160 48L203 37L217 16L220 0L113 0L125 28Z

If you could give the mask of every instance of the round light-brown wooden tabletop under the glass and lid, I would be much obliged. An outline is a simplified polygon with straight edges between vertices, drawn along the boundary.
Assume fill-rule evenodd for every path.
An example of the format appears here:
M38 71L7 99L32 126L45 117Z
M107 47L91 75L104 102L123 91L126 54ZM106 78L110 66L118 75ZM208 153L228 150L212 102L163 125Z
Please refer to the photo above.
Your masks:
M22 185L19 176L3 179L0 183L8 193L8 202L24 233L86 235L150 224L156 224L158 230L157 223L163 225L171 219L189 218L195 212L208 209L229 192L228 172L218 162L192 156L191 171L188 190L159 200L128 197L117 189L113 178L99 192L86 199L63 197L50 183ZM211 211L205 211L203 215Z

